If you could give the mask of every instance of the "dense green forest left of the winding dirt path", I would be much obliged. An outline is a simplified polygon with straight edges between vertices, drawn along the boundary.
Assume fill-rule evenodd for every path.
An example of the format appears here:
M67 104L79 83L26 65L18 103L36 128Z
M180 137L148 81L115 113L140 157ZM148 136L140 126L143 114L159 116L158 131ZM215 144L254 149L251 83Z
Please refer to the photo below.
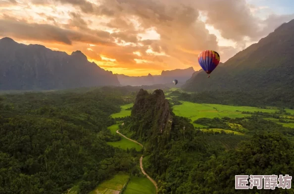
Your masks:
M110 114L132 101L127 90L3 95L0 100L0 194L62 194L136 165L131 153L106 144ZM129 94L130 96L130 94ZM117 138L117 137L116 137Z

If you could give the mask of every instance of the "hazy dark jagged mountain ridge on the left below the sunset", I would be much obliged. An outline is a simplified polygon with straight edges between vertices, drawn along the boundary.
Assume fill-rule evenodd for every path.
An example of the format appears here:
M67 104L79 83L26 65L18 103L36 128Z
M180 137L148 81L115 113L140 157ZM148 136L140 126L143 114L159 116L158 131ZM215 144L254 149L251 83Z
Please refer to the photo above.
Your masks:
M52 90L118 86L110 71L89 62L79 50L68 55L41 45L0 40L0 90Z

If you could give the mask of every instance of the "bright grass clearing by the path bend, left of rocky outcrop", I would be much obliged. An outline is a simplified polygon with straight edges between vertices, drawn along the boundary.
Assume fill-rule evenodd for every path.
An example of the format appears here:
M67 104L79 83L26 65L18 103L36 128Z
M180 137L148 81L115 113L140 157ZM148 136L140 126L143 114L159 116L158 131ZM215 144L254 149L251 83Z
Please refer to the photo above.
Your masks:
M112 134L116 134L116 131L119 129L118 125L120 124L115 124L115 125L111 125L108 127L108 129L111 131ZM138 144L136 144L135 142L129 141L127 139L125 139L124 137L121 137L120 141L117 142L107 142L108 145L112 145L114 147L120 147L122 149L127 149L127 148L132 148L135 147L135 149L137 151L140 151L142 149L142 147Z

